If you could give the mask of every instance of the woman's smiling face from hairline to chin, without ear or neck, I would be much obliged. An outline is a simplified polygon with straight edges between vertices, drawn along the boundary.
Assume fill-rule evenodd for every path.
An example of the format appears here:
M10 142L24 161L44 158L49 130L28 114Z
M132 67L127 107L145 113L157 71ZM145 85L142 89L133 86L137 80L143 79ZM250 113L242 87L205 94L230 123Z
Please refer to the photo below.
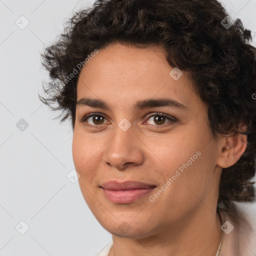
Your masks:
M153 235L216 207L218 145L207 105L164 56L159 46L111 44L79 75L72 141L79 186L99 223L119 236ZM102 188L130 180L152 186Z

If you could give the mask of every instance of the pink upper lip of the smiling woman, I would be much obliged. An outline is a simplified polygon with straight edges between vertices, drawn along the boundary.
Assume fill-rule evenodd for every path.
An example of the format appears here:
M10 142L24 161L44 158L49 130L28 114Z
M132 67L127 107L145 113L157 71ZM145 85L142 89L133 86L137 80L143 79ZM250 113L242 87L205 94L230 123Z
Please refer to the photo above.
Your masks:
M108 181L100 185L100 187L108 190L127 190L127 189L139 189L139 188L152 188L156 185L151 185L139 181L127 180L118 182L116 180Z

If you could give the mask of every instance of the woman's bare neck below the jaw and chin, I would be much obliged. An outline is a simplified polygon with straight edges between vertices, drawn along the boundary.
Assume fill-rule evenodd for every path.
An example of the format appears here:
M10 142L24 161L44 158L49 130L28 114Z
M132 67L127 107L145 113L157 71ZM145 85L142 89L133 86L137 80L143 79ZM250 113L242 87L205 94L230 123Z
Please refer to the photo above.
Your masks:
M147 237L112 235L108 256L215 256L221 239L220 226L219 215L204 206L185 221L165 226Z

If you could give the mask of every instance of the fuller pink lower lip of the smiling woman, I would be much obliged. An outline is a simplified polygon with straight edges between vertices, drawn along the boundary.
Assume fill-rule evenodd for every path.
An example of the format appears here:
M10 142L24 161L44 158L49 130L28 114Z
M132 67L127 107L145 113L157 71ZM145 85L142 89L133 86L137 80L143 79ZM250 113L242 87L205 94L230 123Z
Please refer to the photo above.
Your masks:
M107 190L103 189L104 195L107 199L115 203L130 203L138 198L148 194L154 189L151 188L141 188L141 189L130 189L130 190Z

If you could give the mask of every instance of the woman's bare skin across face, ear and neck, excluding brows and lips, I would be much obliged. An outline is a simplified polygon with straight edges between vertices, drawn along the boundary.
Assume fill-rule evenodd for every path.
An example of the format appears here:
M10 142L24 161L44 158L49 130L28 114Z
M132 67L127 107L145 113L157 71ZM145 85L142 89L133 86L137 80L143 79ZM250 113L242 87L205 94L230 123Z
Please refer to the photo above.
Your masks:
M172 69L160 46L141 49L113 43L100 49L80 72L77 101L82 97L102 99L111 109L77 106L72 141L82 195L98 222L112 234L109 256L215 256L217 251L221 171L242 155L246 137L219 135L213 139L206 103L193 91L188 73L183 71L174 80L169 75ZM166 97L187 109L133 108L137 100ZM80 121L93 112L105 116L102 124L92 117ZM159 124L154 121L155 112L178 121L165 118ZM131 124L127 131L118 127L123 118ZM150 202L149 196L197 151L201 155ZM117 204L106 199L99 188L109 180L136 180L157 187L132 203ZM120 224L129 231L124 233Z

